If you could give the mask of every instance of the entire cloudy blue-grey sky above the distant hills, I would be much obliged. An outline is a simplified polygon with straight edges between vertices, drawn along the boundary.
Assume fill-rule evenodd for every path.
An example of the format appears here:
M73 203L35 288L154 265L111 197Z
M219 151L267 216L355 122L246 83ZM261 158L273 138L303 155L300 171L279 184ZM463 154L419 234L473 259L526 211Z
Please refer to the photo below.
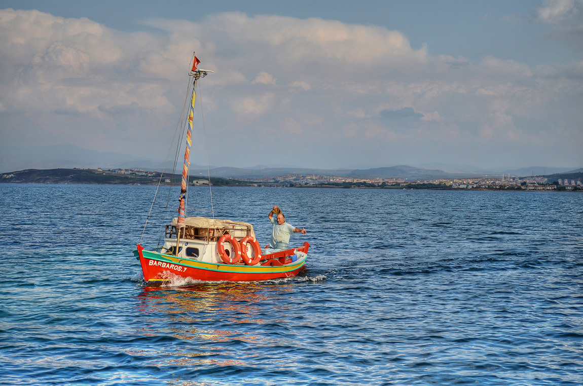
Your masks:
M192 164L583 166L583 0L0 0L0 146L164 160L193 51Z

